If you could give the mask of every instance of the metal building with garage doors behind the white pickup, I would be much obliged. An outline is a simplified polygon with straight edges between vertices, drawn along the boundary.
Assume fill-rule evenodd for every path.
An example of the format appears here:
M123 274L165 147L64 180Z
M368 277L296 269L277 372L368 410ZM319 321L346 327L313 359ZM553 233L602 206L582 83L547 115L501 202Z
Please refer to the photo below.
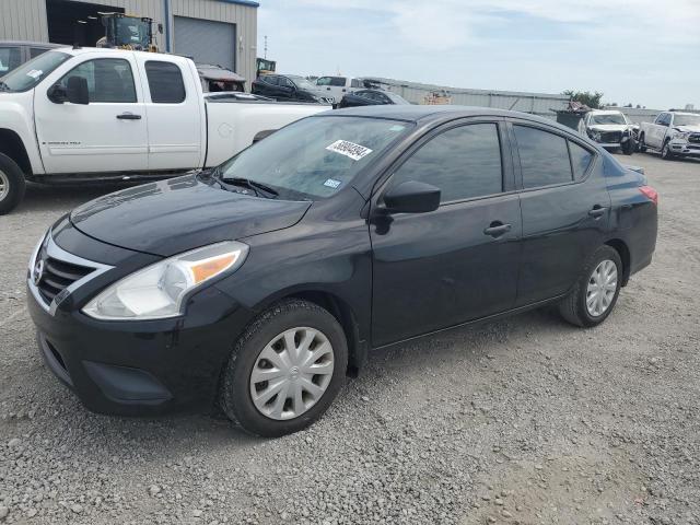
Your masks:
M255 80L257 8L253 0L0 0L0 40L94 46L101 12L153 19L158 47ZM162 31L162 33L161 33Z

